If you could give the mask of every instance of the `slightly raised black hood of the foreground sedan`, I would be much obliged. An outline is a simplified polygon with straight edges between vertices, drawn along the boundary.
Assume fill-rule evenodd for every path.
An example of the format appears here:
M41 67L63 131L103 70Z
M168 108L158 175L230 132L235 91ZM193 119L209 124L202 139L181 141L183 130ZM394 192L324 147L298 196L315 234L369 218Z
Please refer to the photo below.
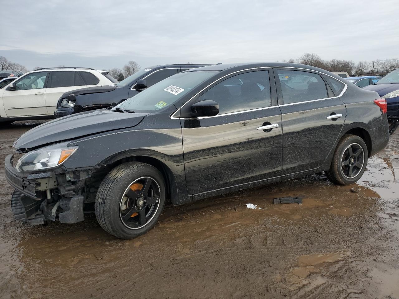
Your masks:
M147 113L148 114L148 113ZM131 128L146 116L144 113L121 113L109 110L92 110L51 120L22 134L14 148L33 149L82 136Z

